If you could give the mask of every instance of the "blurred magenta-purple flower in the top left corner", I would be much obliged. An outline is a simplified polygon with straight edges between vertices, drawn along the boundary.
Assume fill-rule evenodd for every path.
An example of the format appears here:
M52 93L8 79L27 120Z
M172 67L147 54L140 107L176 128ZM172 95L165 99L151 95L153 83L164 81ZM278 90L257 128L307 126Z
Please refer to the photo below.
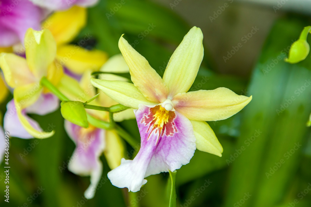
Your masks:
M2 0L0 11L0 47L23 42L26 30L39 30L45 16L44 10L29 0Z

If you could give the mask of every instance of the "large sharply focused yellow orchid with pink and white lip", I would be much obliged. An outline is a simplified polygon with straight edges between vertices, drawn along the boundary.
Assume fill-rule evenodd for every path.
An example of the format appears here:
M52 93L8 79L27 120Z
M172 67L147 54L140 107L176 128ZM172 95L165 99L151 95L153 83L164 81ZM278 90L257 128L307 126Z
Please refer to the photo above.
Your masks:
M107 96L134 110L141 148L134 160L108 173L116 187L139 191L149 175L188 164L196 148L221 156L222 146L205 121L227 119L252 97L227 88L188 92L203 59L203 34L193 27L171 56L163 79L148 61L121 36L119 49L128 64L132 83L91 79Z

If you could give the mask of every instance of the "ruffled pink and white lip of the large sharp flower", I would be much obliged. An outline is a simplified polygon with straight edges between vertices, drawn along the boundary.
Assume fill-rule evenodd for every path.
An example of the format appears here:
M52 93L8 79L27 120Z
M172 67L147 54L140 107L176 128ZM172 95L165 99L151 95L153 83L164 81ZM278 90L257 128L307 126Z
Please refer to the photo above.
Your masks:
M140 105L135 111L141 148L134 160L121 160L121 165L108 173L116 187L139 191L151 174L168 172L188 164L196 149L191 122L178 112L169 112L163 129L154 128L154 115L161 106Z

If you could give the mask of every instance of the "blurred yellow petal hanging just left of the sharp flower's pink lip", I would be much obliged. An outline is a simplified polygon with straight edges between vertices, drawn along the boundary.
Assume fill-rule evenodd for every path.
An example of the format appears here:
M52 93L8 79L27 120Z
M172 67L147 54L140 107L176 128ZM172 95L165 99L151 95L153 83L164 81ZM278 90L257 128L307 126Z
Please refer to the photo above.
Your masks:
M121 164L121 159L125 155L124 142L114 130L106 131L106 148L104 150L108 166L115 169Z

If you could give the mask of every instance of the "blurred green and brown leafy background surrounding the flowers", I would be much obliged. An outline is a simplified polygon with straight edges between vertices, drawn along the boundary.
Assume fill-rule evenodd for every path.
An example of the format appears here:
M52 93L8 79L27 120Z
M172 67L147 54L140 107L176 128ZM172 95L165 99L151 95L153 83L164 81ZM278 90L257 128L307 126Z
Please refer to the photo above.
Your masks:
M205 54L191 90L226 87L239 95L253 95L237 115L209 123L224 148L223 156L196 151L190 163L177 171L177 206L309 207L311 138L306 122L311 112L311 59L308 56L294 65L283 59L303 27L311 25L311 3L124 2L115 9L120 0L100 0L89 8L88 23L72 43L90 34L83 47L112 56L119 53L118 39L124 33L162 76L183 36L197 26L204 35ZM242 47L237 50L239 43ZM202 84L201 80L206 81ZM2 114L11 99L9 95L1 104ZM44 140L11 139L11 199L8 204L2 197L0 206L168 206L168 173L150 176L141 191L128 193L111 185L104 157L104 173L95 198L84 200L83 192L90 181L67 170L75 145L64 130L60 110L30 116L43 129L53 127L56 133ZM123 121L121 126L140 139L135 120ZM128 146L128 155L132 152ZM3 166L1 195L5 186Z

